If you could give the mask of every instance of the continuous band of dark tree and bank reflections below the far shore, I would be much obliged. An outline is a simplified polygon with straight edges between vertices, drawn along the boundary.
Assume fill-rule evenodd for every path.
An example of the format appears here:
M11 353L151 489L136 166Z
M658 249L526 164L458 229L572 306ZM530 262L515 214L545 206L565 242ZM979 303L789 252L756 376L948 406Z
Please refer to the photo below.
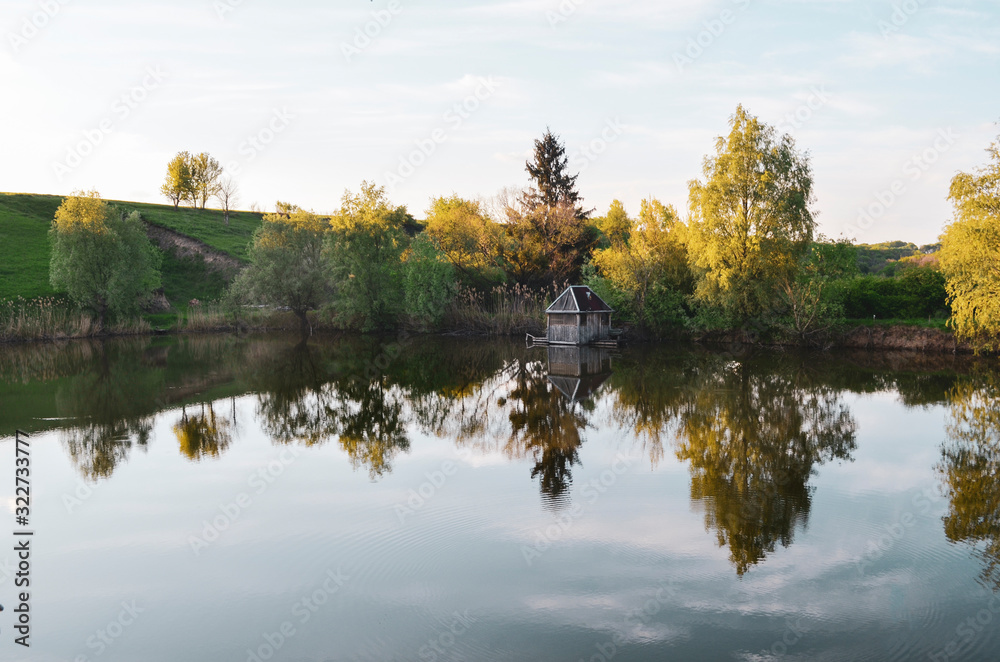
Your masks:
M760 354L739 362L670 347L606 350L452 339L183 337L68 343L0 353L0 425L58 428L88 479L145 449L159 412L181 453L219 458L239 444L234 398L256 400L252 423L276 444L339 446L372 480L411 438L524 460L546 507L565 507L588 433L617 431L654 467L687 465L690 499L743 575L810 518L810 477L849 461L858 425L843 394L892 390L908 406L945 402L939 472L945 530L977 546L1000 586L1000 384L893 355L816 361ZM613 363L613 366L612 366ZM25 422L25 417L30 421Z

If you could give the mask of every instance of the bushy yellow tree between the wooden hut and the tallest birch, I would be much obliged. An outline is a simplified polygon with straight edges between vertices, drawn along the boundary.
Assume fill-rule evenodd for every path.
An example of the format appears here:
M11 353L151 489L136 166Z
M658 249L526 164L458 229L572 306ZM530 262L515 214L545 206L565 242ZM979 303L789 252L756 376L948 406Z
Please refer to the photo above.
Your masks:
M677 211L655 198L643 200L639 218L632 220L616 200L599 227L611 245L594 251L594 265L613 287L612 305L647 328L680 324L691 276L686 228Z

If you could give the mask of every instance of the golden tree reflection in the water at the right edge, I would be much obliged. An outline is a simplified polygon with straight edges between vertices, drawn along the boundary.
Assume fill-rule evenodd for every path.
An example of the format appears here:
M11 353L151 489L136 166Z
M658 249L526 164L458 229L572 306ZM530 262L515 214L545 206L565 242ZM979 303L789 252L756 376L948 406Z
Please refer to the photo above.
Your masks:
M1000 376L959 381L948 404L948 437L937 466L949 500L944 532L976 546L983 581L1000 590Z

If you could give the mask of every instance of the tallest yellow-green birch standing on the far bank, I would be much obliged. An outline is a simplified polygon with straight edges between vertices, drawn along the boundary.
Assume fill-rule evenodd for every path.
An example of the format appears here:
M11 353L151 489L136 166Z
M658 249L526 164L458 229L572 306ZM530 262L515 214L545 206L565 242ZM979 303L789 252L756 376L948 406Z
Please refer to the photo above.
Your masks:
M689 251L695 296L742 323L771 312L812 240L808 154L737 106L728 137L692 181Z

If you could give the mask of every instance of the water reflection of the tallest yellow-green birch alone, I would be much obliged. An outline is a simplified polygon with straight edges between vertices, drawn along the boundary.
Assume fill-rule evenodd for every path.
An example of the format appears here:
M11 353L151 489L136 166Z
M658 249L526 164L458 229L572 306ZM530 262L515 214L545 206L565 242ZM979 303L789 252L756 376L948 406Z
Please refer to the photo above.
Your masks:
M744 362L695 373L677 424L691 499L739 575L809 520L809 477L850 459L857 423L838 392Z

